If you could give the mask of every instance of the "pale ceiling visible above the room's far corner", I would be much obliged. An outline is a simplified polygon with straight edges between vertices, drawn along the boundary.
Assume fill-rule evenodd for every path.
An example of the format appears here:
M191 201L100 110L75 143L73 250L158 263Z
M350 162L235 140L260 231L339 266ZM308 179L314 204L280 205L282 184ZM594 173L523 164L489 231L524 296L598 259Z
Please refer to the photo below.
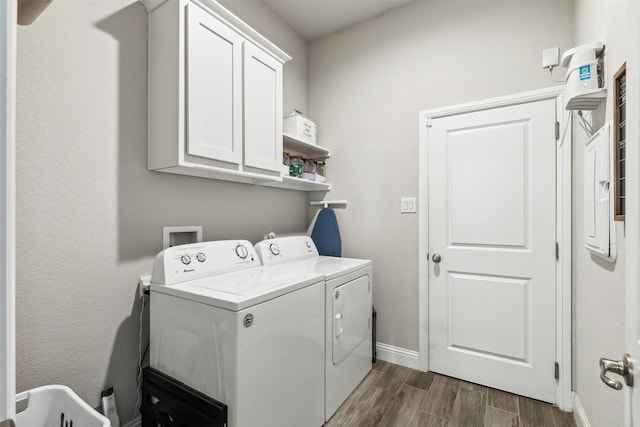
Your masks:
M307 41L366 21L413 0L262 0Z

